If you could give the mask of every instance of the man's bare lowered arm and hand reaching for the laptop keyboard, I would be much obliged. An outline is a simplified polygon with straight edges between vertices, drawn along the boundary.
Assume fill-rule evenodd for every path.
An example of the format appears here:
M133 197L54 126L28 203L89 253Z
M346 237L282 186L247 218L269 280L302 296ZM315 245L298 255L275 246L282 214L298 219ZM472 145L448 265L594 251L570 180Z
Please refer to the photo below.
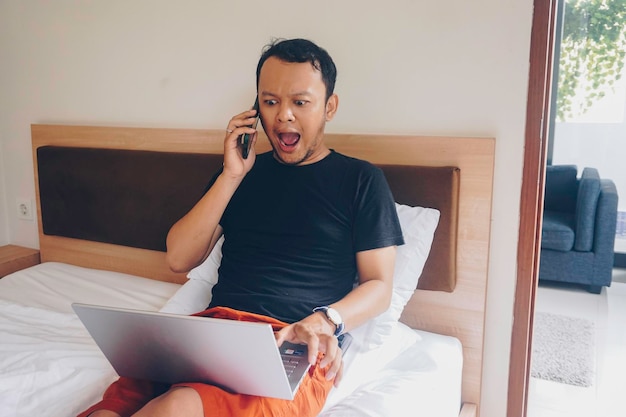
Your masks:
M341 314L345 331L358 327L389 308L395 259L395 246L357 253L359 286L331 305ZM316 362L318 353L322 352L324 359L320 366L330 365L326 378L332 379L336 376L336 385L341 380L342 354L334 333L335 326L320 312L283 328L276 334L276 340L279 345L283 341L306 344L311 364Z

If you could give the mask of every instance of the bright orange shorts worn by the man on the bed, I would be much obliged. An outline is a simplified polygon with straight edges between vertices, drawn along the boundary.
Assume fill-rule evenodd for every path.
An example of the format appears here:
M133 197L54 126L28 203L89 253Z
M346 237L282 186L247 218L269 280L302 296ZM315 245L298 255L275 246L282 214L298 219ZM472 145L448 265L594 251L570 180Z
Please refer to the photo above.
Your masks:
M215 307L194 315L269 323L274 331L286 326L285 323L270 317L226 307ZM333 386L333 381L327 381L325 374L324 369L319 366L312 366L309 369L309 375L305 376L293 400L233 394L213 385L202 383L180 383L170 386L122 377L107 388L102 401L89 407L78 417L86 417L97 410L114 411L122 417L131 416L150 400L164 394L172 387L190 387L196 390L202 398L205 417L314 417L322 410L326 397Z

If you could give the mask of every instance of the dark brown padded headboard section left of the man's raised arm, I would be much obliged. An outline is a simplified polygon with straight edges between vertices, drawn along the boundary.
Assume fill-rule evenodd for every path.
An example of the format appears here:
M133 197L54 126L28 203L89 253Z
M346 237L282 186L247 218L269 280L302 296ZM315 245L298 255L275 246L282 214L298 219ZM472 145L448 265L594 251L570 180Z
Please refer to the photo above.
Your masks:
M220 155L37 149L43 232L165 251L169 228L202 196Z

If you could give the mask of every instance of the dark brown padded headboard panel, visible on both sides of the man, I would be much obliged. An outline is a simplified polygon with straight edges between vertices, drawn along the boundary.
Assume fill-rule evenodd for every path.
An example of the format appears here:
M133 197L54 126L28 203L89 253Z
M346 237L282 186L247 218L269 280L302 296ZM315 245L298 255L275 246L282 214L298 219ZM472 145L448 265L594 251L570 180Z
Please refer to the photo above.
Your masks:
M169 228L198 201L222 162L218 154L40 147L43 233L165 251ZM452 291L458 168L379 166L398 203L440 210L418 288Z

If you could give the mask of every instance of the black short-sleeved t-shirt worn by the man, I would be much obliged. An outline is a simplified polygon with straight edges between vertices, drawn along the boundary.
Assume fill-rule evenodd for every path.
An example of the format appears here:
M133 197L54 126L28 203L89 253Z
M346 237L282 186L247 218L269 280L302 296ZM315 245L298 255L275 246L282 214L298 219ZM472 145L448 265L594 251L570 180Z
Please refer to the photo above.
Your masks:
M331 152L288 166L258 155L229 202L210 306L295 322L348 294L356 253L404 243L382 171Z

